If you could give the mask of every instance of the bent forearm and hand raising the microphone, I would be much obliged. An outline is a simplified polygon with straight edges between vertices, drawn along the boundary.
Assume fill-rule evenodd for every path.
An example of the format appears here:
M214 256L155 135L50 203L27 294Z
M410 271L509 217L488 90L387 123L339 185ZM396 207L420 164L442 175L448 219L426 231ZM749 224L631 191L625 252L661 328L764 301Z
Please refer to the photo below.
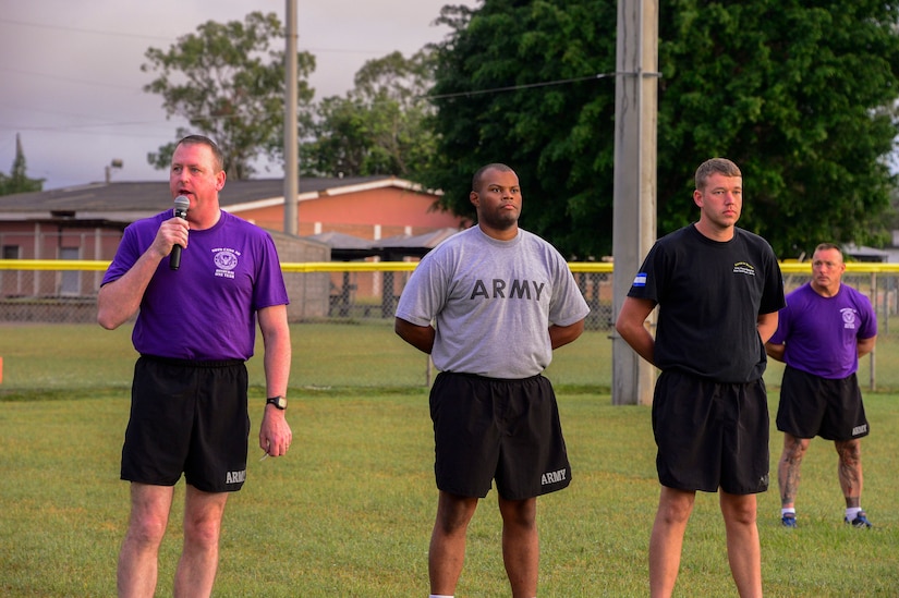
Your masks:
M181 218L162 222L153 244L134 266L120 279L100 288L97 294L97 322L100 326L113 330L137 313L159 263L171 253L175 243L182 247L187 246L187 222Z

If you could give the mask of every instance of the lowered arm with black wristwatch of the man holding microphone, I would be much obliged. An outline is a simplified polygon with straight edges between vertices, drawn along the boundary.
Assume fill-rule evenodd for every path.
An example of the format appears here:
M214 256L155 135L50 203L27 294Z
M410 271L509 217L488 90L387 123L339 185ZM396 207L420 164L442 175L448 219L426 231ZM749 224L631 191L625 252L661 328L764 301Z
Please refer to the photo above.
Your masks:
M287 396L290 377L290 328L286 305L272 305L259 309L259 330L265 344L266 396ZM259 448L271 456L287 454L293 439L286 411L266 405L259 426Z

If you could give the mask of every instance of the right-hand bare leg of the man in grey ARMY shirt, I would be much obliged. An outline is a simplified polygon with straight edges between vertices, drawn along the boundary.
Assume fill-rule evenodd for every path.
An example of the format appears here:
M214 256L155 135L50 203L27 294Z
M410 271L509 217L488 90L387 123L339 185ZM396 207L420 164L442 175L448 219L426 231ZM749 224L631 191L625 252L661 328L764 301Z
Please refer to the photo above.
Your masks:
M502 514L502 560L512 586L512 598L537 595L540 558L537 535L537 499L506 500L499 497Z

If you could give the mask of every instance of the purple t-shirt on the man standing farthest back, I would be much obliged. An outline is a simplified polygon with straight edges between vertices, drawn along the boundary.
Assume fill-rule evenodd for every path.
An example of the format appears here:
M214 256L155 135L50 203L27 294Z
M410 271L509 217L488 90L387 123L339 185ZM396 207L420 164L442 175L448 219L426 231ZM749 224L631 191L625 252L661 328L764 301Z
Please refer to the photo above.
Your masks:
M858 340L877 335L877 317L868 298L846 284L833 297L805 283L787 295L772 343L786 344L783 362L833 380L859 369Z

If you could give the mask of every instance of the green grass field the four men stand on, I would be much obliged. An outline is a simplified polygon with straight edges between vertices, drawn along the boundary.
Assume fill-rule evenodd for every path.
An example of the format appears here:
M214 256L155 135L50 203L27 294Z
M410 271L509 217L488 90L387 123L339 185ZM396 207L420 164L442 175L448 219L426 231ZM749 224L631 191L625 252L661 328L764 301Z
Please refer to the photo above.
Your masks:
M294 328L291 453L259 461L226 511L216 596L427 595L436 504L425 359L388 327ZM539 595L648 593L646 550L658 485L649 410L612 406L600 333L562 349L550 376L574 472L539 500ZM118 479L134 354L127 331L0 329L0 595L114 595L127 485ZM251 362L254 427L262 413ZM863 505L876 528L847 528L836 453L821 439L803 465L801 527L782 529L777 492L760 496L768 596L896 596L899 588L899 396L867 393ZM777 395L772 392L770 407ZM256 430L251 434L251 439ZM254 443L251 441L251 449ZM773 466L780 437L772 436ZM183 484L160 553L171 595ZM717 498L700 495L678 596L736 596ZM469 533L458 596L508 596L491 492Z

